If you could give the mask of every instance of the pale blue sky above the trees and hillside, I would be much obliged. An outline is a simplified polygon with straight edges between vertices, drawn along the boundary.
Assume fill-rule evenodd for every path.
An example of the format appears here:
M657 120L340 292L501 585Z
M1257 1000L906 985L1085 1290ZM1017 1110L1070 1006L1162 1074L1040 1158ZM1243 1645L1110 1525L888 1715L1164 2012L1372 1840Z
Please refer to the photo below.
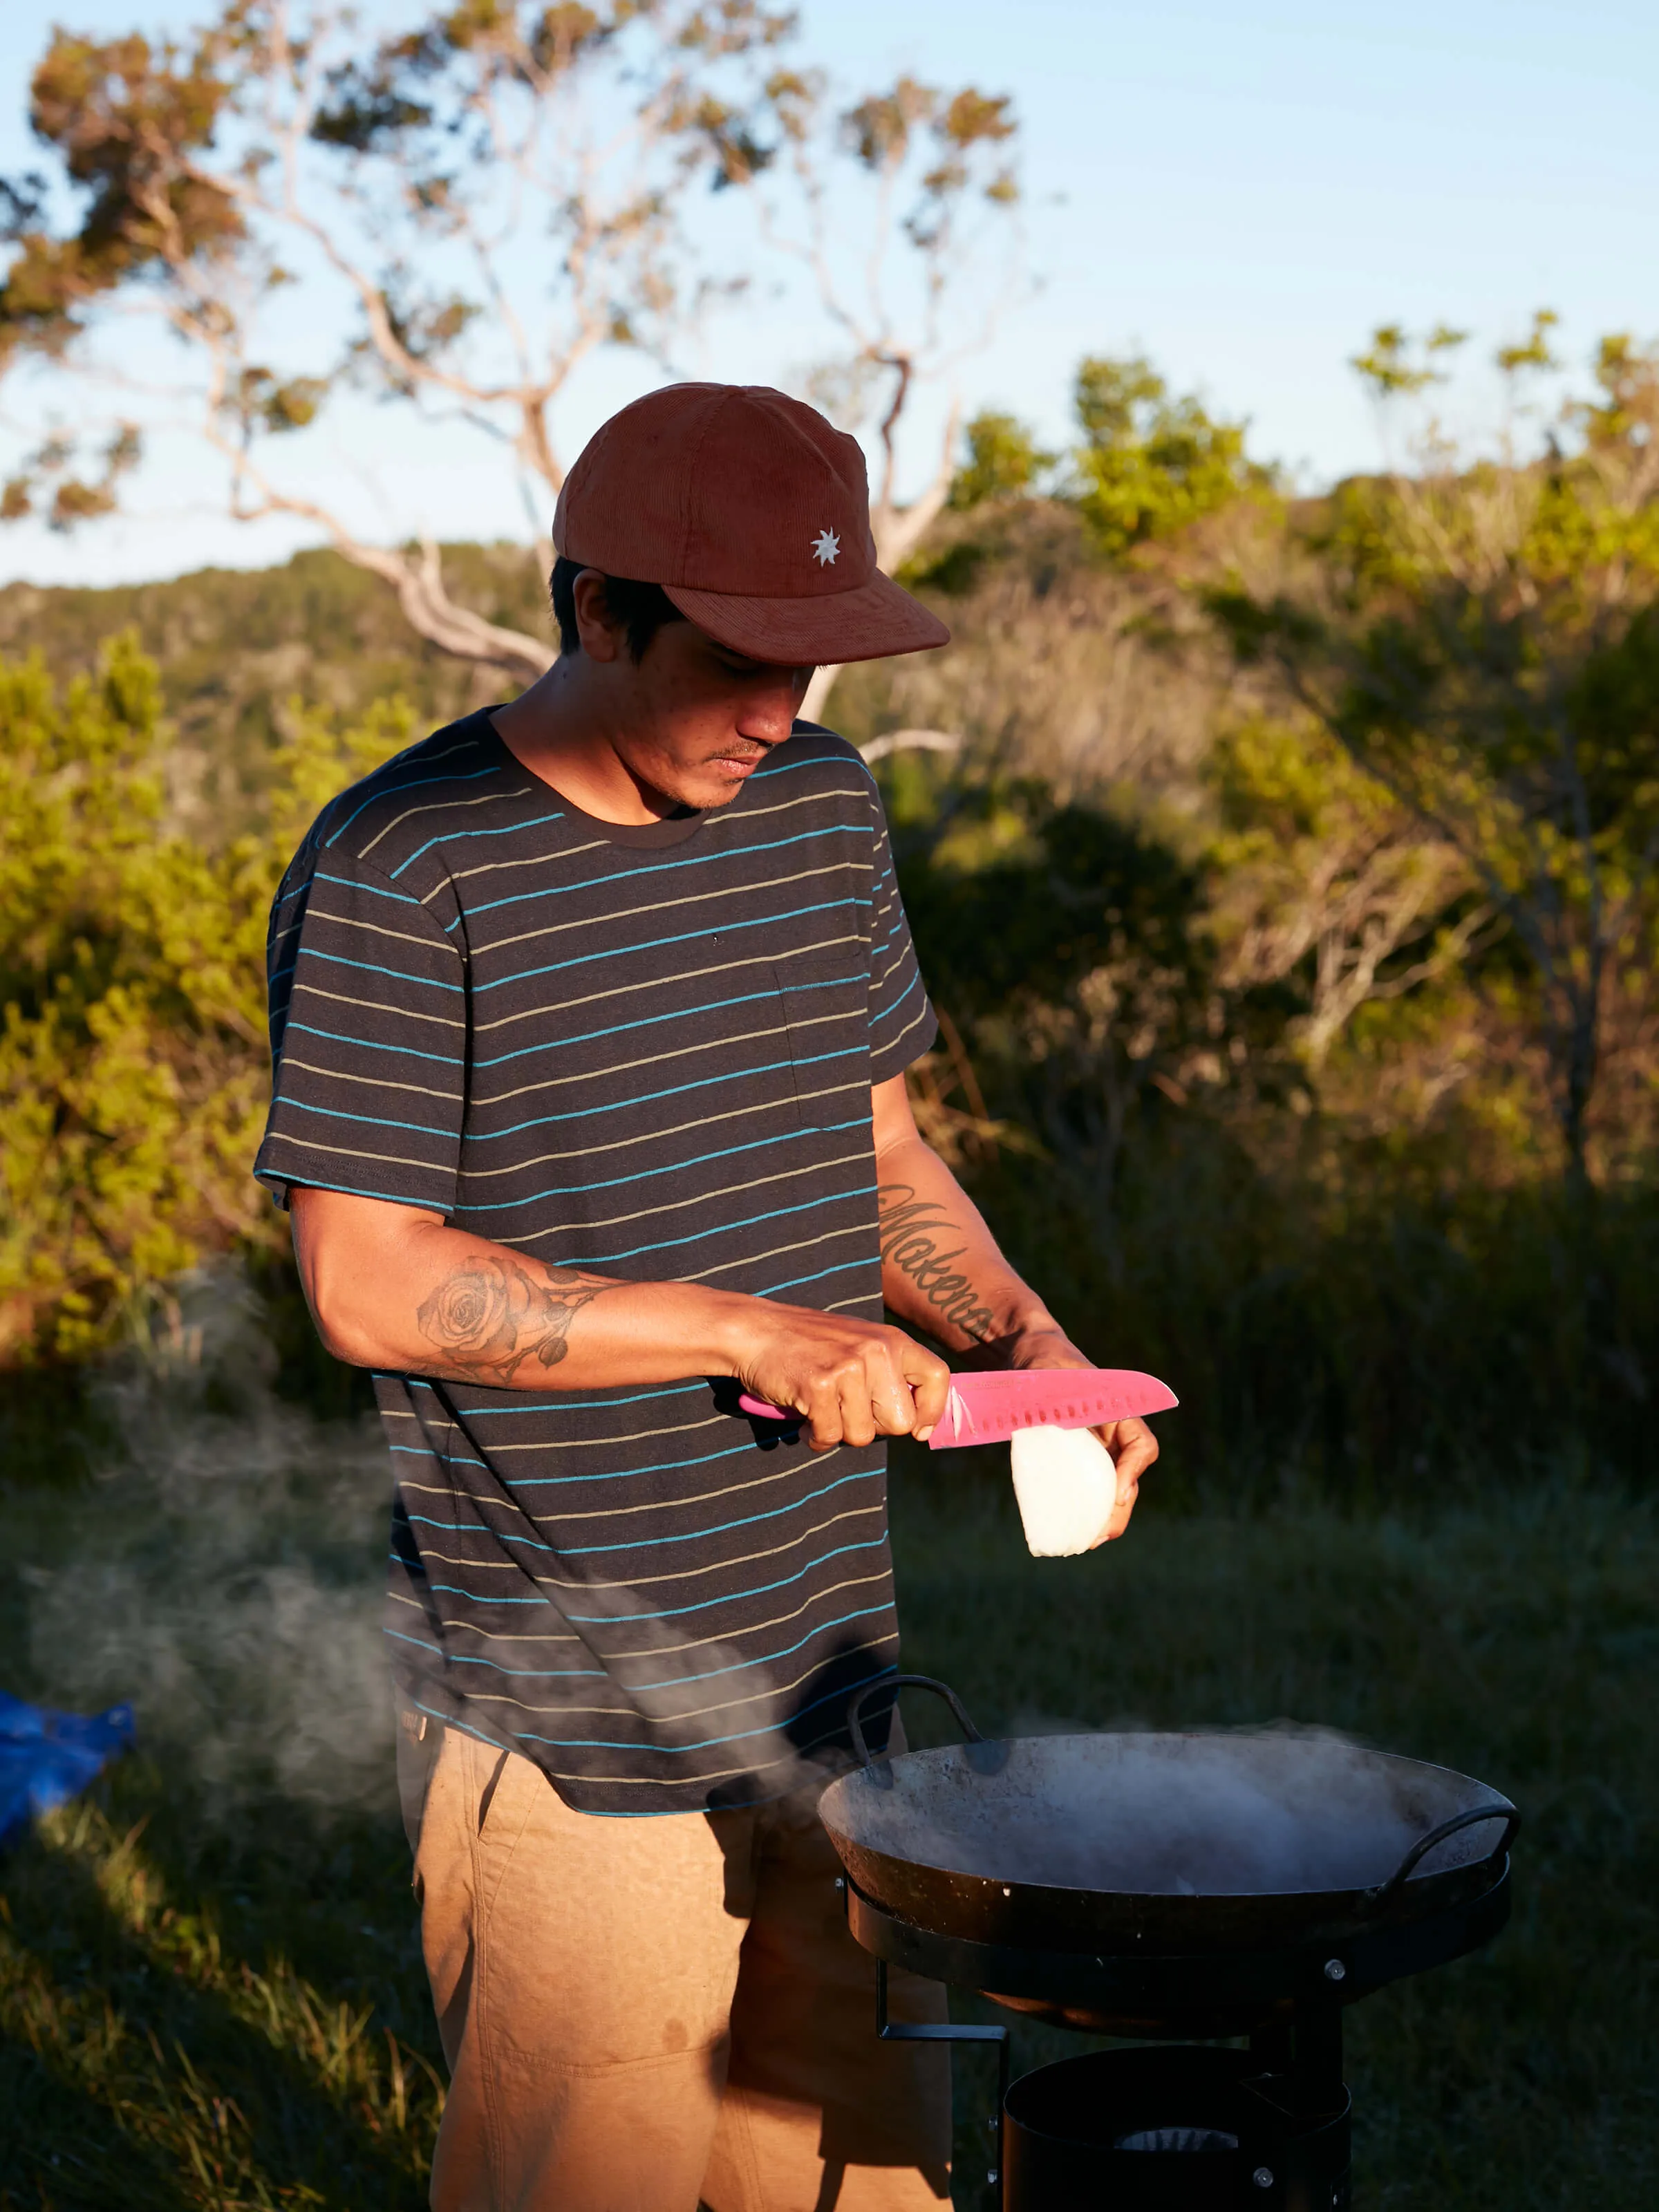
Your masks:
M113 31L186 11L69 0L0 11L0 166L31 159L27 71L46 24ZM1562 345L1659 334L1659 0L805 0L841 75L896 66L1011 91L1026 131L1035 299L964 369L1064 436L1086 349L1146 349L1252 420L1252 445L1318 480L1376 456L1345 358L1385 319L1449 319L1484 347L1562 312ZM783 376L768 323L726 325L714 374ZM573 451L626 369L586 378ZM1471 380L1460 405L1486 405ZM467 535L462 469L427 520ZM511 522L507 524L511 526ZM288 542L201 513L58 544L0 533L0 575L117 577Z

